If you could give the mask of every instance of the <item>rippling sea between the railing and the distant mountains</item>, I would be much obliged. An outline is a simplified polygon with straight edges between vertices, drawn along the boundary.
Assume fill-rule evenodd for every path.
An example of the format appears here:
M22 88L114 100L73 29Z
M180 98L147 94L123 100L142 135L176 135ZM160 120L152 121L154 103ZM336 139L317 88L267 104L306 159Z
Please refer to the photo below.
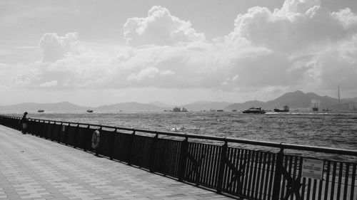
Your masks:
M28 117L357 150L357 113L267 112L254 115L241 112L44 112L29 113Z

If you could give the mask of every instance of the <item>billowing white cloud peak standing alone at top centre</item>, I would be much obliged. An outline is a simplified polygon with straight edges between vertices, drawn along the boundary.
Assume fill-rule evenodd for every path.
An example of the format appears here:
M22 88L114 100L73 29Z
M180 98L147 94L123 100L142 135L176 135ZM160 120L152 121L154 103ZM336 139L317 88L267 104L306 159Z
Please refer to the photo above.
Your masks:
M203 33L196 33L189 21L172 16L168 9L153 6L145 18L134 17L124 24L124 38L134 45L174 45L204 41Z

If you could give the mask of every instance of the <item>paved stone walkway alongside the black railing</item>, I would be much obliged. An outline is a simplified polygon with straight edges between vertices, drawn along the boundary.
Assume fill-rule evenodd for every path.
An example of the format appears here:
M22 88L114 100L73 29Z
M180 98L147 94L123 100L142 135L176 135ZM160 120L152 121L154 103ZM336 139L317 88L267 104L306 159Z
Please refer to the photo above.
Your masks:
M0 125L0 199L230 199Z

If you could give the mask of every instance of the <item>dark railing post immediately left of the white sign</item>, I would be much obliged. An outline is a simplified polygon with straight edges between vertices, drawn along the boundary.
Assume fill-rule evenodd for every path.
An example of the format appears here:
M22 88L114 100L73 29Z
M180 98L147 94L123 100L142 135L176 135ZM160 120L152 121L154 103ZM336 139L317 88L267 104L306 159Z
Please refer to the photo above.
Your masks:
M276 157L276 164L275 164L275 176L274 176L274 183L273 183L273 200L279 199L279 193L281 189L281 172L283 171L283 156L284 156L284 149L283 147L280 148L280 152L278 152Z

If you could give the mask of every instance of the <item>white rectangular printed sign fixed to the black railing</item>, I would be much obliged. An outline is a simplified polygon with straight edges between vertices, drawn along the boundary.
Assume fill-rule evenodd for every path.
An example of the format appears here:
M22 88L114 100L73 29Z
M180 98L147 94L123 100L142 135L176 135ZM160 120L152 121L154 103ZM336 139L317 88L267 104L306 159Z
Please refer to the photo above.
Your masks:
M311 179L322 179L323 160L303 159L302 176Z

